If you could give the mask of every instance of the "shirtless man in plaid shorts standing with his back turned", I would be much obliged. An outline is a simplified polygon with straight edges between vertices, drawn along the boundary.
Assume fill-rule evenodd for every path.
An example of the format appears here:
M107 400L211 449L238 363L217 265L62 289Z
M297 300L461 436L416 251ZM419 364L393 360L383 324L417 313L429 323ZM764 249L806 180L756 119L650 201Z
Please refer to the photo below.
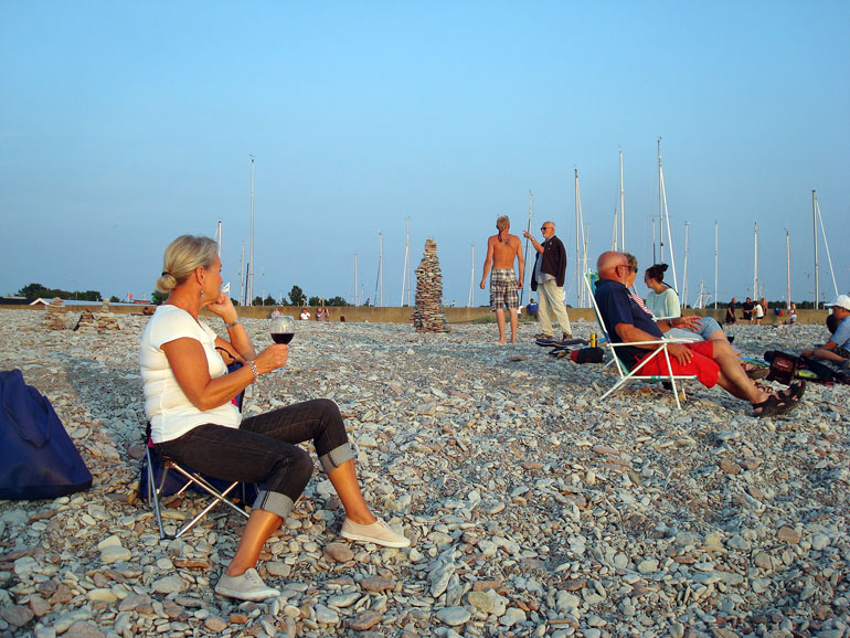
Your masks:
M499 325L499 343L507 343L504 338L504 308L508 308L511 320L511 343L517 343L517 309L520 306L520 296L517 293L522 288L525 276L525 262L522 259L522 243L517 235L509 233L511 222L502 215L496 220L498 234L487 240L487 257L484 262L484 276L481 277L481 290L487 283L487 274L490 275L490 310L496 312L496 322ZM513 259L519 259L520 276L513 270Z

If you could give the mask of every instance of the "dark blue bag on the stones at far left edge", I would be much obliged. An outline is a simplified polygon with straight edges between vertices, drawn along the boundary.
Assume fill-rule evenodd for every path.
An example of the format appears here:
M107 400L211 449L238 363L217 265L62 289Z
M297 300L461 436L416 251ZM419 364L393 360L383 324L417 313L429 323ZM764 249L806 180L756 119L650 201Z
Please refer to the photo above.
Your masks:
M0 499L54 499L92 487L92 474L50 401L0 371Z

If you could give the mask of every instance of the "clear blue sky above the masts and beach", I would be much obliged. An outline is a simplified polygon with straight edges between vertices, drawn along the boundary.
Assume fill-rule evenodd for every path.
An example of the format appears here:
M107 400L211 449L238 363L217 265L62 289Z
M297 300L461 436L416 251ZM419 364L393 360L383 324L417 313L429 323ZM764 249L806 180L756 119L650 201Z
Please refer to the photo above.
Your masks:
M255 163L255 295L298 284L399 305L437 242L445 299L475 304L499 214L553 220L570 253L574 169L592 259L652 260L657 138L689 299L814 290L817 189L850 288L850 3L0 2L0 294L30 283L149 295L164 246L224 226L238 290ZM535 231L539 234L539 231ZM833 297L821 246L821 293ZM681 280L680 280L681 288ZM645 293L642 285L639 290Z

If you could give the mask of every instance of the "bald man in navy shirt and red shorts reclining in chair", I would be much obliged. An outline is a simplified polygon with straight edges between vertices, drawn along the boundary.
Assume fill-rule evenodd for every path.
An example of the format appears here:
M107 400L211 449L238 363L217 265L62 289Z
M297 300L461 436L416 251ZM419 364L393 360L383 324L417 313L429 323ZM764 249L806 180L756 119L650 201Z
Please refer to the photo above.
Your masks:
M663 332L658 323L669 322L671 328L688 328L699 317L677 317L656 323L651 315L640 308L631 298L626 287L633 268L623 253L607 252L599 256L596 263L599 281L596 284L596 304L599 307L609 337L614 343L636 343L634 347L618 348L617 353L623 362L634 369L644 358L657 348L655 344L640 342L658 341ZM670 343L670 366L677 375L694 374L705 387L720 385L723 390L748 401L755 416L775 416L794 410L799 403L805 385L795 382L788 390L777 394L768 394L747 378L741 368L741 362L727 342L698 341L692 343ZM640 369L641 374L669 374L667 360L661 354L650 359Z

